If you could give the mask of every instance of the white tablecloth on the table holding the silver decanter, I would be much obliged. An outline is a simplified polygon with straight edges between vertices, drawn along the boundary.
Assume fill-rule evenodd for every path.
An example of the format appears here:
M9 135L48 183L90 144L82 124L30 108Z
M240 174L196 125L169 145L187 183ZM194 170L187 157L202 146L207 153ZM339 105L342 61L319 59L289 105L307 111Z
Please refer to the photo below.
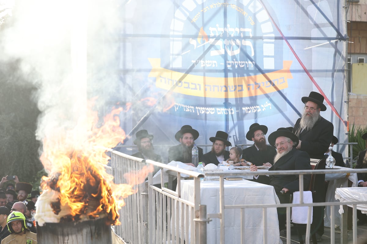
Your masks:
M350 168L335 166L335 168L350 170ZM329 181L326 191L326 202L339 202L335 199L335 190L348 187L348 180L352 181L352 187L357 186L357 173L338 173L338 169L330 169L333 173L325 174L325 180ZM330 206L325 207L324 226L330 227ZM335 225L340 226L339 208L334 207Z

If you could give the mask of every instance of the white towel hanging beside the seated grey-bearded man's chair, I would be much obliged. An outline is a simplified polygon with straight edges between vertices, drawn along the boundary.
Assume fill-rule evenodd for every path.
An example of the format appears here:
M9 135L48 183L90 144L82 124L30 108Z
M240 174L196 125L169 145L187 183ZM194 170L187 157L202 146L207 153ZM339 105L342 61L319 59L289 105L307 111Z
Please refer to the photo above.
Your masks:
M299 203L299 191L293 192L293 203ZM303 202L312 203L312 192L303 192ZM313 208L311 208L311 223L312 223ZM296 224L307 224L308 206L292 207L292 222Z

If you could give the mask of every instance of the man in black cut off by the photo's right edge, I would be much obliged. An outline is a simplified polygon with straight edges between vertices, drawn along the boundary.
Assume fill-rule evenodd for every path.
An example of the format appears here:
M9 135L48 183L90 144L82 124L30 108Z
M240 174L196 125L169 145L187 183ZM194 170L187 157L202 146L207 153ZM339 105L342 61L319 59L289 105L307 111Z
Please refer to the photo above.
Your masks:
M362 139L366 140L366 150L358 153L356 169L367 168L367 132L362 135ZM358 187L367 187L367 173L357 173ZM357 210L357 225L364 225L367 222L367 215Z

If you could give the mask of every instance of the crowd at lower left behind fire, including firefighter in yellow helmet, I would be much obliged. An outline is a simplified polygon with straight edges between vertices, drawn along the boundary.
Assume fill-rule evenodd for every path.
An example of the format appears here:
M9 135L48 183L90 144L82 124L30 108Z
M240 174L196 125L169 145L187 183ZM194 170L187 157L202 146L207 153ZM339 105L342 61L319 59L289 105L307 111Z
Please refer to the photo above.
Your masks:
M33 186L27 182L19 182L18 176L4 176L1 179L1 244L37 244L34 214L40 192L32 191L32 188Z

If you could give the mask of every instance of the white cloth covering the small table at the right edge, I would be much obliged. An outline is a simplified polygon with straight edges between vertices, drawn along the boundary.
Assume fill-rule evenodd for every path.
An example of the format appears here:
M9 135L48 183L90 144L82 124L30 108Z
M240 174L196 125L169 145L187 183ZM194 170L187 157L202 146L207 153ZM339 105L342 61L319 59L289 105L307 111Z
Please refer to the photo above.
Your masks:
M338 188L335 191L335 198L340 200L340 202L367 202L367 187ZM348 206L353 207L352 205ZM366 214L367 204L357 204L357 209Z

